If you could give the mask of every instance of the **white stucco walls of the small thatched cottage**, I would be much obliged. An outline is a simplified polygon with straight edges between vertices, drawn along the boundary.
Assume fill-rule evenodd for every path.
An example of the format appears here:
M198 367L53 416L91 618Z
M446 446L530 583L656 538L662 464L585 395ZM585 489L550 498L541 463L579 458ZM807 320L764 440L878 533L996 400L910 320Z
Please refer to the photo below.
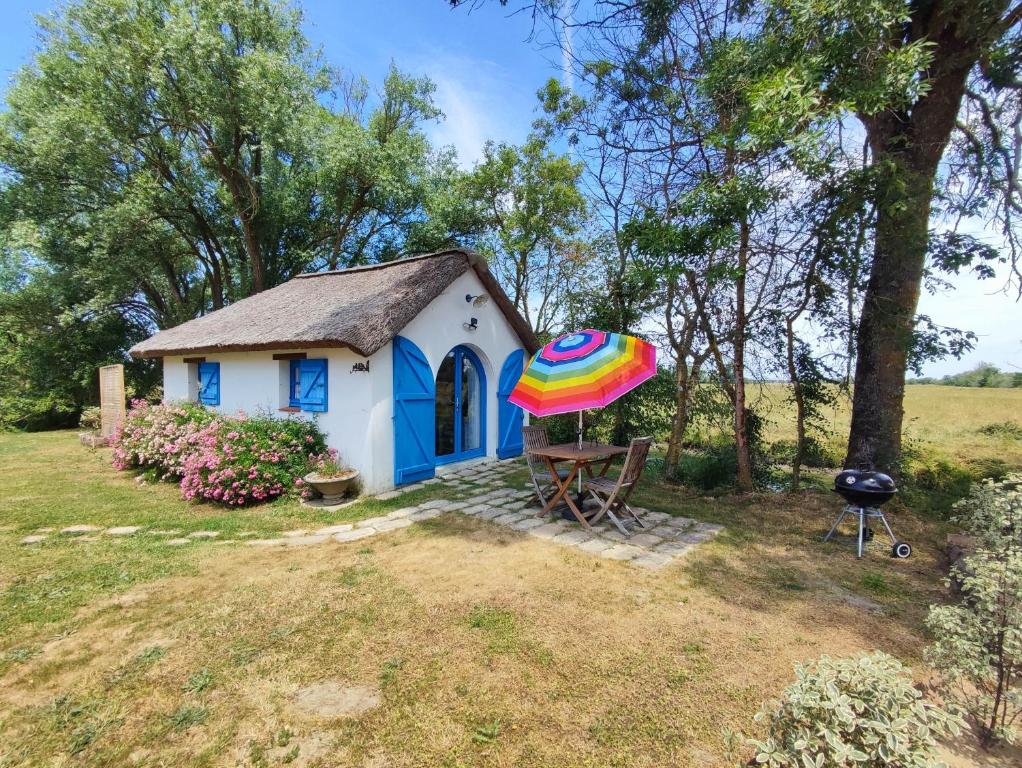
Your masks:
M405 328L401 335L422 350L432 368L433 377L444 357L454 347L465 345L482 362L486 377L486 455L497 455L497 377L504 360L521 343L510 324L490 301L472 307L466 293L485 292L471 270L455 280ZM464 323L478 320L476 330ZM231 352L202 355L220 363L220 407L223 413L244 410L286 416L279 408L286 405L286 388L281 387L281 370L286 361L273 359L275 352ZM293 414L315 418L326 433L329 445L336 448L345 463L362 473L363 490L376 493L393 487L393 360L387 344L368 358L369 372L352 372L352 366L367 358L347 349L301 350L309 358L326 358L328 410L325 413ZM164 359L164 397L166 400L194 400L195 365L182 357Z

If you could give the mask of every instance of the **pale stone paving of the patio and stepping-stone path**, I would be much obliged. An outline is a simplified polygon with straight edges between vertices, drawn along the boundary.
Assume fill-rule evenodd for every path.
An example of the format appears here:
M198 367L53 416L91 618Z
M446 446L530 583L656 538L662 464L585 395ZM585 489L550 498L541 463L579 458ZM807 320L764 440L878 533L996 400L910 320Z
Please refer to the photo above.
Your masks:
M647 524L647 528L633 531L629 536L606 523L598 524L588 531L573 521L540 517L538 516L540 507L535 504L531 484L526 484L527 488L520 489L507 484L507 476L518 468L520 464L516 461L507 460L439 470L434 479L387 491L375 498L393 499L418 488L435 485L442 485L446 491L450 491L448 495L451 498L433 499L417 506L403 507L384 515L356 523L326 526L315 530L285 531L273 539L256 539L252 538L253 532L242 532L238 534L237 539L220 540L218 543L290 548L323 544L328 541L357 541L387 531L407 528L447 512L458 512L607 559L626 560L641 568L659 569L685 556L723 530L722 526L699 523L688 517L672 517L665 512L653 512L639 507L636 511ZM337 505L337 508L350 503L354 502L345 502ZM102 536L125 538L142 533L166 536L167 543L174 546L184 546L201 539L217 539L220 536L217 531L194 531L181 537L181 532L177 530L146 531L139 526L102 529L96 526L77 525L61 529L59 533L53 529L40 529L35 534L22 538L21 543L38 544L51 535L87 542L96 541Z

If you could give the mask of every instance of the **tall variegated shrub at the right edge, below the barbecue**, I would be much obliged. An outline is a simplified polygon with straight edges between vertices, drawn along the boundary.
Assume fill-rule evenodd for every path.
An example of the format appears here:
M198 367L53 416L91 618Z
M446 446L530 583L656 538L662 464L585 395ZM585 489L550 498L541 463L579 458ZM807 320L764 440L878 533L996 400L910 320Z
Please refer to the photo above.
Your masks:
M926 658L983 744L1013 741L1022 716L1022 476L979 485L956 510L975 551L951 575L962 602L930 608Z

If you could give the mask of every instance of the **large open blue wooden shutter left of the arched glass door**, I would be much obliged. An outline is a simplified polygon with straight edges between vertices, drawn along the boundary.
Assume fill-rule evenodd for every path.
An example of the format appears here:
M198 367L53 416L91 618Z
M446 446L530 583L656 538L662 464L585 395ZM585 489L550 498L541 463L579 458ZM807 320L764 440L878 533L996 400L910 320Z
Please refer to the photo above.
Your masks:
M393 482L433 477L433 371L422 350L404 336L393 340Z

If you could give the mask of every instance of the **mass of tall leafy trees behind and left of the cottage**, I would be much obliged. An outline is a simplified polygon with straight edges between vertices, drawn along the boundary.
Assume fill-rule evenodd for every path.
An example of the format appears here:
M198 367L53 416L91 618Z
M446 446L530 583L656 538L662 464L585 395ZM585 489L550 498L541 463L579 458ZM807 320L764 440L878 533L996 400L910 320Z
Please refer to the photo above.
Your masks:
M81 0L40 17L0 116L0 427L74 425L96 368L148 397L154 327L310 269L471 240L434 86L370 97L262 0Z

